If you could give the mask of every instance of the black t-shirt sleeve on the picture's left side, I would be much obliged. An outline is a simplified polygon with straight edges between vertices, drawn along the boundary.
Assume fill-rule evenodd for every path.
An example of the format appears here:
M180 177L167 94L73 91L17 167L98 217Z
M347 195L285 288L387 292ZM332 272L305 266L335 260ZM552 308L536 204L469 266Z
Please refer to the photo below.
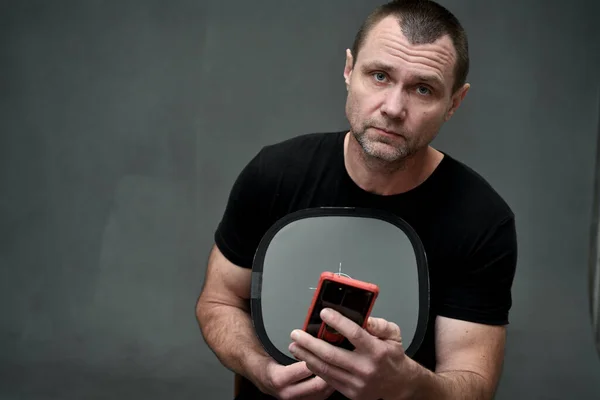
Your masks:
M252 268L256 248L267 224L267 178L261 156L262 151L238 175L214 234L221 253L243 268Z

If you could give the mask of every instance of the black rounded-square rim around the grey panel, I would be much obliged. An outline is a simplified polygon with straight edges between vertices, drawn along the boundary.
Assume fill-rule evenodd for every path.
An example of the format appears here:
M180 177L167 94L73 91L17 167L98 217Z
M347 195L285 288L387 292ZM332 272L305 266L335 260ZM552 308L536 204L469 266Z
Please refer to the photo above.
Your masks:
M273 342L269 339L266 329L264 327L264 320L262 315L262 274L264 269L264 261L267 250L271 241L275 236L286 226L292 222L307 218L317 217L352 217L352 218L371 218L379 219L384 222L395 225L398 229L402 230L404 234L409 238L416 257L417 262L417 276L419 280L419 312L417 319L417 328L413 339L408 347L405 348L405 353L409 357L413 357L417 352L427 331L429 323L429 309L430 309L430 284L429 284L429 270L427 266L427 255L423 247L421 239L417 235L416 231L402 218L389 213L387 211L370 209L370 208L356 208L356 207L315 207L306 208L293 213L287 214L286 216L277 220L264 234L261 241L259 242L258 248L254 255L252 265L252 278L251 278L251 295L250 295L250 314L254 330L260 343L269 355L271 355L277 362L282 365L290 365L298 362L298 360L289 357L282 353L275 347ZM291 332L290 332L291 333Z

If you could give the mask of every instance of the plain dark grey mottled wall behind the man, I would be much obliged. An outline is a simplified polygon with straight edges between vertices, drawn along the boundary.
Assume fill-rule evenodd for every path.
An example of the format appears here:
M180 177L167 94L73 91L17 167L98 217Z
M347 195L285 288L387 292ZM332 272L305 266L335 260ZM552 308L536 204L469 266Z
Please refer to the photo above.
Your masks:
M0 397L231 398L194 304L239 170L343 129L381 2L0 3ZM599 3L446 0L472 90L437 147L518 216L499 399L600 398L587 254Z

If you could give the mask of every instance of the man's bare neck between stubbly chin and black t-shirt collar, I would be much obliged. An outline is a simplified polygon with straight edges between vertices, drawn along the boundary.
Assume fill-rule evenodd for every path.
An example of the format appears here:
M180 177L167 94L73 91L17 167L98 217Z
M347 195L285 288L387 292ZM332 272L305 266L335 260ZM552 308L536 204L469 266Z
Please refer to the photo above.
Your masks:
M344 139L344 163L350 178L361 189L383 196L408 192L423 183L444 155L427 146L410 158L388 163L366 155L351 132Z

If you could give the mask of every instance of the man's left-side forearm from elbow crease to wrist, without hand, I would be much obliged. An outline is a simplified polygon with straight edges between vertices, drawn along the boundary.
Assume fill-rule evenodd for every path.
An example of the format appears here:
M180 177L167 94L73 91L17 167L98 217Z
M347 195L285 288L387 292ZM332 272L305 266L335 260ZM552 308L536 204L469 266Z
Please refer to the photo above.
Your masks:
M246 310L200 301L196 311L207 345L228 369L254 381L268 355L256 338Z

